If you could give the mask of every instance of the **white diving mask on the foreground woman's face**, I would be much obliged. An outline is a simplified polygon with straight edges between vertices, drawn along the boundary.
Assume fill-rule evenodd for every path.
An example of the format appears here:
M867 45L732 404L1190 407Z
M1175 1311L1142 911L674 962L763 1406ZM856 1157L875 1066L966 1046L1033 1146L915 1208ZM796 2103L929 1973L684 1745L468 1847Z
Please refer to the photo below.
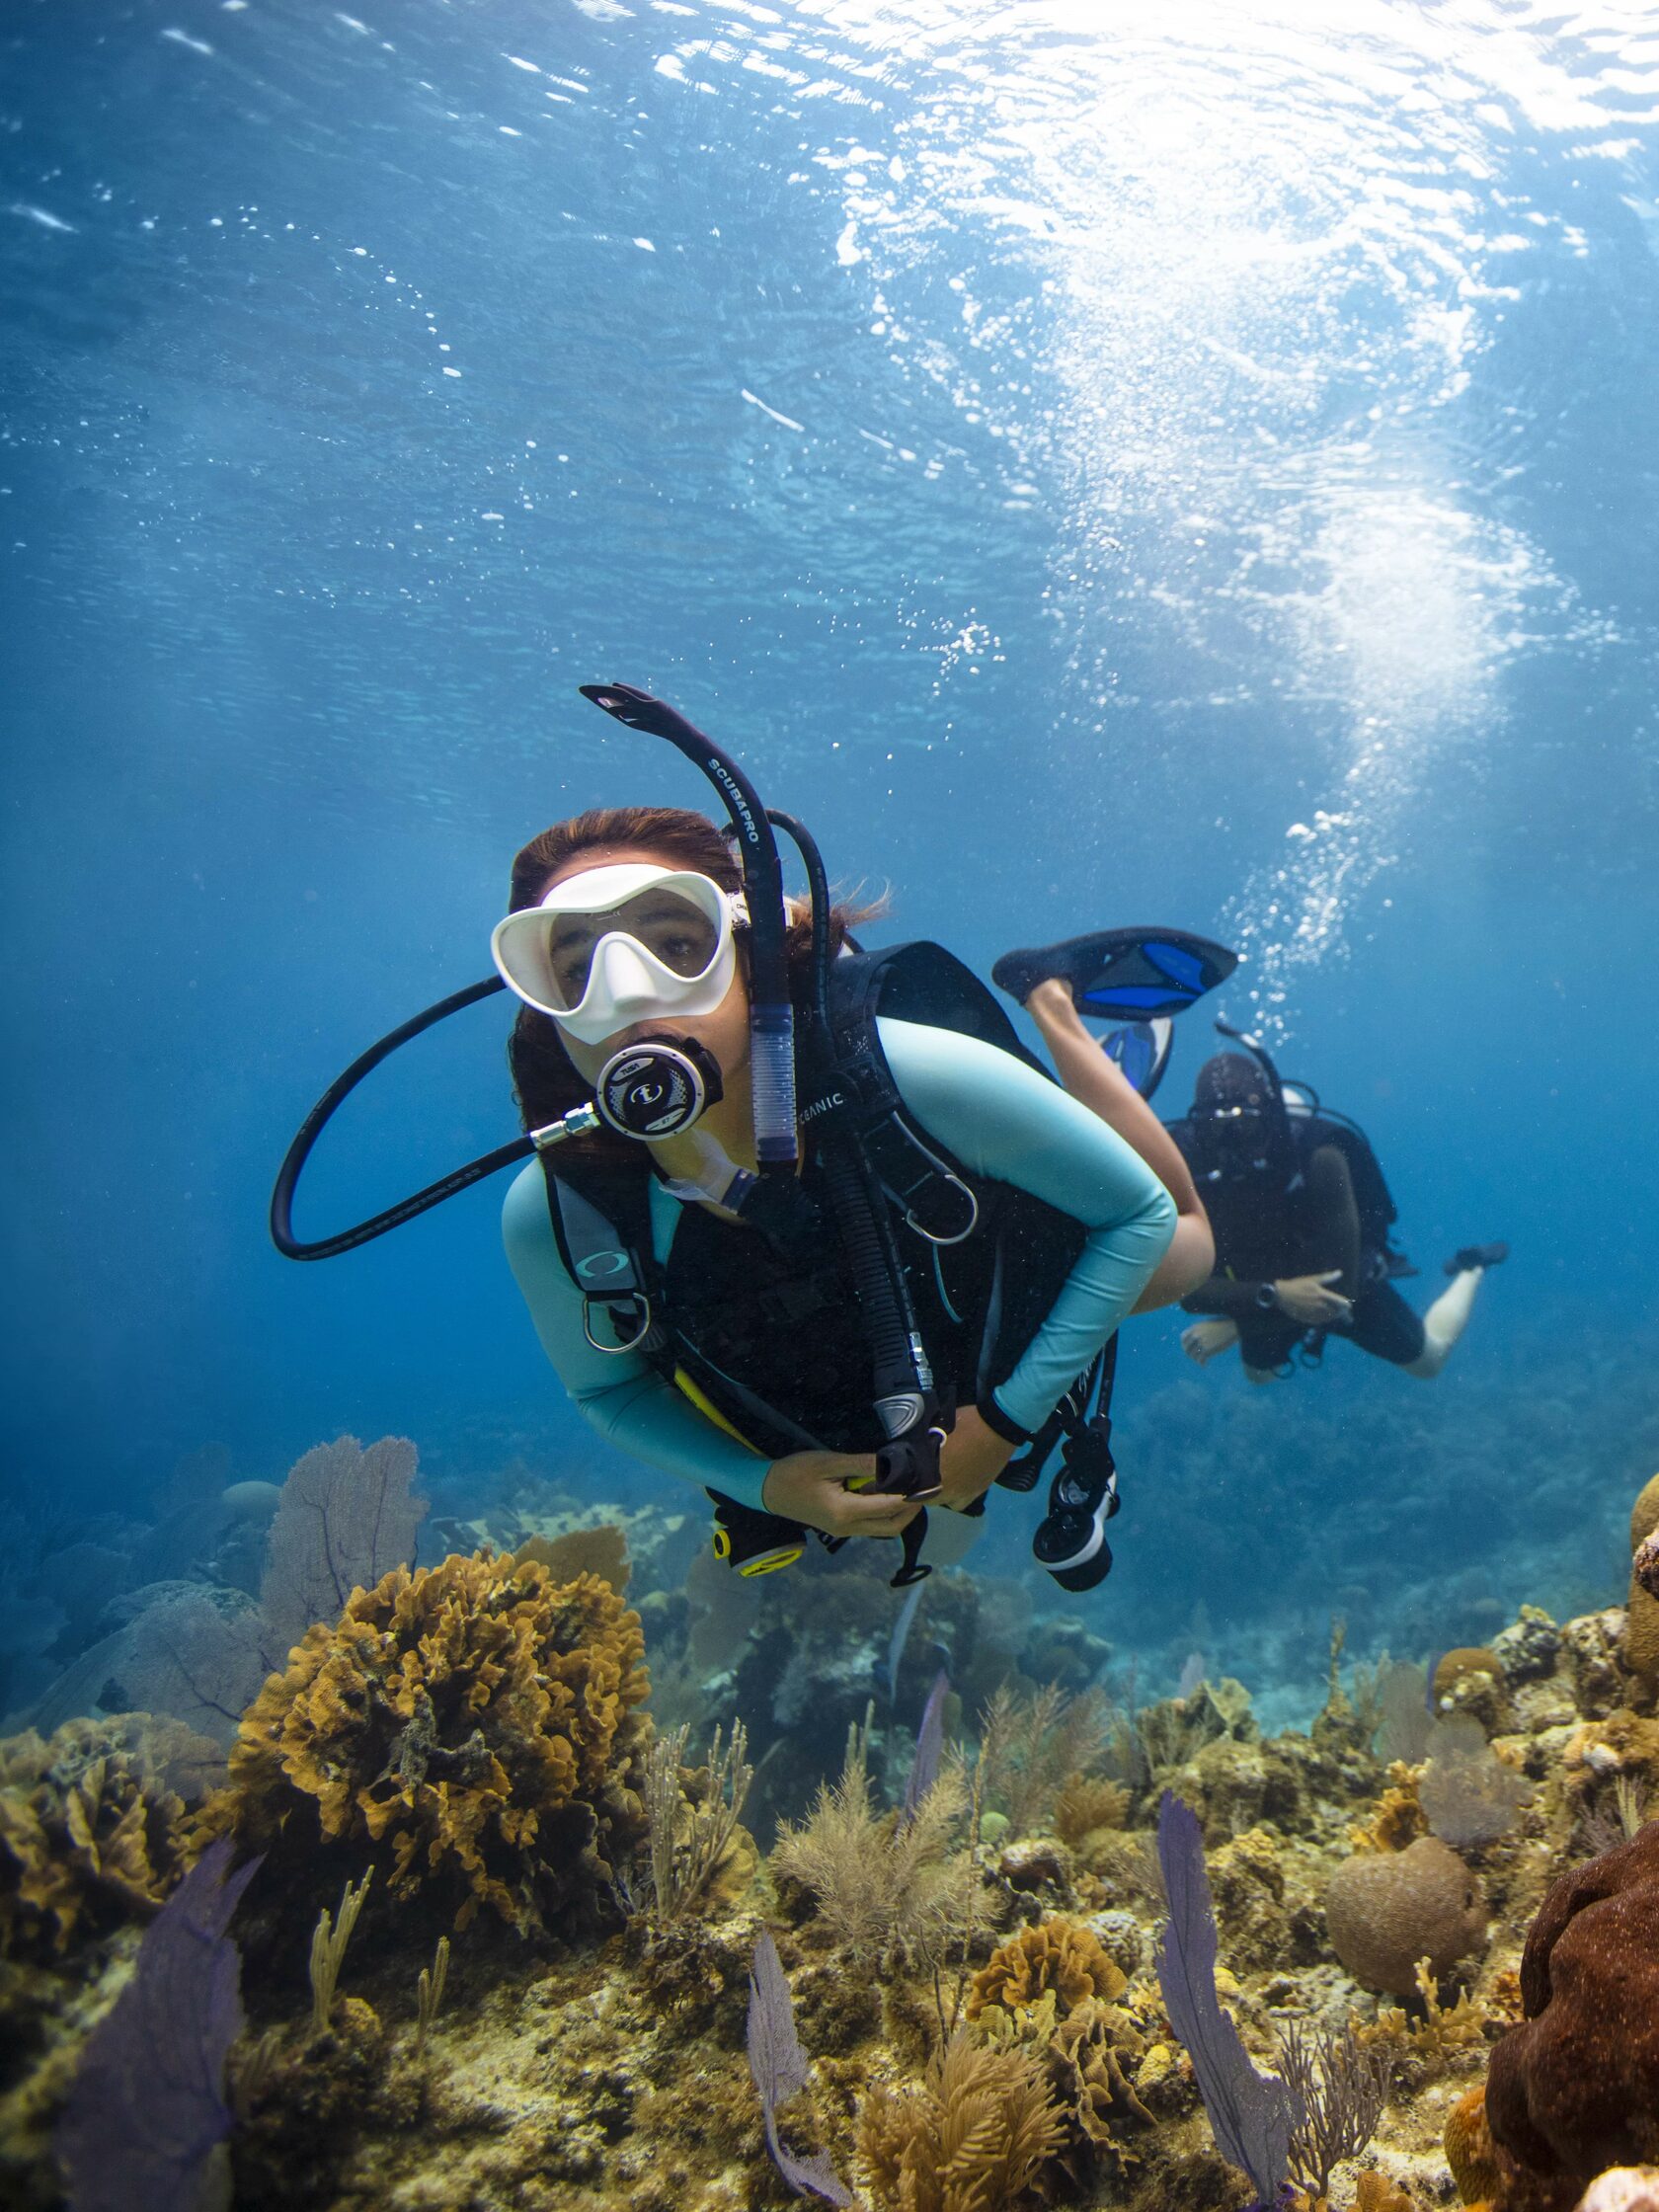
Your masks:
M582 1044L637 1022L714 1013L737 975L741 894L684 867L626 860L553 885L495 922L489 951L518 998Z

